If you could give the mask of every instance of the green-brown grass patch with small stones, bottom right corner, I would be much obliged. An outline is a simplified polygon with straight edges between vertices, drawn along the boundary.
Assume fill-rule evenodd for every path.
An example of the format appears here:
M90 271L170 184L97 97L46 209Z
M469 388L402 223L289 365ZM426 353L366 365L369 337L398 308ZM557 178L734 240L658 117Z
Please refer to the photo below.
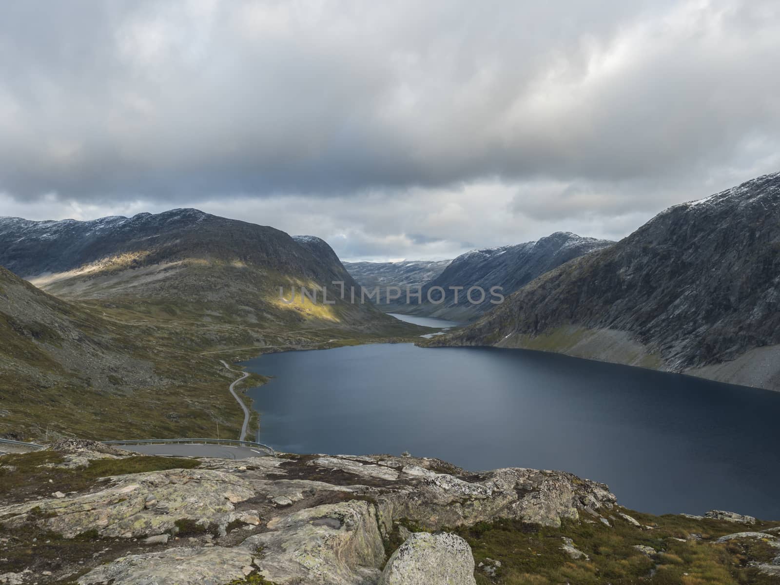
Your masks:
M743 539L726 544L714 540L724 534L748 530L739 524L685 516L652 516L623 510L640 523L654 527L642 530L620 519L610 519L612 527L580 521L564 521L560 529L540 527L512 520L478 523L453 530L469 542L477 564L478 585L739 585L776 583L749 566L752 561L768 561L776 549L760 539ZM617 511L615 511L617 512ZM762 530L778 523L759 523L750 530ZM687 539L690 534L701 540ZM589 559L573 559L562 550L562 537ZM675 540L683 539L683 541ZM658 551L648 557L633 548L641 544ZM501 562L495 576L478 568L487 559Z

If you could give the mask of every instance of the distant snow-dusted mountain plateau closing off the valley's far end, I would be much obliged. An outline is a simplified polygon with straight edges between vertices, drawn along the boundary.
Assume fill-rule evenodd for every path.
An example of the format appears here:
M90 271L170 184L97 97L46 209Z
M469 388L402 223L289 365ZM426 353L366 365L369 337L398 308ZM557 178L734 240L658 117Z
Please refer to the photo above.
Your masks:
M380 308L386 287L422 286L444 271L452 260L406 260L401 262L343 262L344 268L365 289L380 287Z

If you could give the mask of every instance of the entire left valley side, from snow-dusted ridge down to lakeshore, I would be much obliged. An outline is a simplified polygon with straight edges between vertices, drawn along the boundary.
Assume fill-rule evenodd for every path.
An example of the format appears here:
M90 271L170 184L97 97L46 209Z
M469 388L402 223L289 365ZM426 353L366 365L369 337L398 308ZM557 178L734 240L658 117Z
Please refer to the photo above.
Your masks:
M0 218L0 434L237 438L221 357L419 335L370 304L279 297L354 283L330 246L197 210ZM55 295L55 296L52 296ZM257 384L253 377L244 386ZM235 431L235 434L234 434Z

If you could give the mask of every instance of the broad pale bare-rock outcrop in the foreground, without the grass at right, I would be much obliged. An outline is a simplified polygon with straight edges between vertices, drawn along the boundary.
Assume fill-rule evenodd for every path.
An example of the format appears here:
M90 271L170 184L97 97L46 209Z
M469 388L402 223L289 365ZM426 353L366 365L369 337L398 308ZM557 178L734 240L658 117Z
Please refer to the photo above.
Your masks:
M12 530L128 543L126 554L63 566L55 576L80 585L217 585L252 574L278 585L472 585L469 545L433 533L495 519L556 527L583 512L592 521L614 505L604 484L557 471L468 473L438 459L278 456L106 477L83 492L0 506L0 519ZM404 524L429 532L413 534ZM390 542L403 544L388 550Z

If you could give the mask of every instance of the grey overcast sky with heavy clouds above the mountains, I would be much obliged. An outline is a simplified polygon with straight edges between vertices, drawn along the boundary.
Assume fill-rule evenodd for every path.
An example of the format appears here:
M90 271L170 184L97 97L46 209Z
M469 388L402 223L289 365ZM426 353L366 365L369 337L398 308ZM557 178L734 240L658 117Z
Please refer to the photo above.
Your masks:
M454 257L780 170L780 2L0 3L0 215Z

